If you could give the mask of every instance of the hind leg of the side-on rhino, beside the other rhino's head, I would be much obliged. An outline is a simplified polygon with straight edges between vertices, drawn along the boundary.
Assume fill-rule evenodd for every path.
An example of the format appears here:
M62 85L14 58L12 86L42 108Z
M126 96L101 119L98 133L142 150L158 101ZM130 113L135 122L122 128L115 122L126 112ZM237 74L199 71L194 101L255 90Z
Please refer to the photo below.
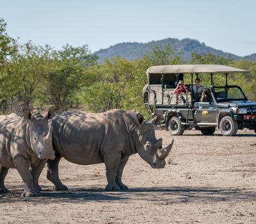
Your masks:
M56 157L54 160L48 159L47 161L47 179L54 184L54 190L56 191L63 191L63 190L68 190L68 188L61 183L60 177L59 177L59 163L61 160L61 155L56 154Z

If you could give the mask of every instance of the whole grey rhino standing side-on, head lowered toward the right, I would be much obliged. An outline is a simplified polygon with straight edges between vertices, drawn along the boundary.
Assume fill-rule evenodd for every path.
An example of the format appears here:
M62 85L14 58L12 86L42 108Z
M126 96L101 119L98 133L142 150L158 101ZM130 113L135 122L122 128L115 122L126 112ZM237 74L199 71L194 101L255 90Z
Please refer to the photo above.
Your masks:
M47 179L56 190L67 189L58 175L61 157L82 165L105 163L106 190L120 190L128 189L122 183L122 173L129 156L138 153L152 168L164 168L164 159L172 148L172 144L162 148L162 139L156 140L155 124L159 120L149 122L136 111L66 111L54 115L51 121L56 158L47 161Z

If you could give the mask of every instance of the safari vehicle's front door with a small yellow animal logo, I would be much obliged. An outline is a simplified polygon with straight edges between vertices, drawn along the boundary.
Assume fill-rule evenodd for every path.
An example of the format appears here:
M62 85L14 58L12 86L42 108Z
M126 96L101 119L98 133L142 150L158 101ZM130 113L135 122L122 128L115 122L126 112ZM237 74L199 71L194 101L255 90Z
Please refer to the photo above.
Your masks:
M216 123L217 109L214 102L195 102L194 118L196 123Z

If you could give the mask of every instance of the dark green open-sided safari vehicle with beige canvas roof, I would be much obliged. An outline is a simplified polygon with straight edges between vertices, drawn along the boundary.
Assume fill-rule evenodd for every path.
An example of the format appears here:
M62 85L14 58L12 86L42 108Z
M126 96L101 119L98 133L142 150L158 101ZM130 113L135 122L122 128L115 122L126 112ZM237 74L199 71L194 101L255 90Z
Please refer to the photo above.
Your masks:
M153 116L163 115L161 124L172 135L184 130L197 129L211 135L217 129L223 136L236 135L237 129L245 127L256 132L256 102L250 102L239 86L228 85L228 74L250 72L225 65L163 65L148 68L148 84L143 88L143 99ZM213 76L221 73L226 77L223 86L214 86ZM203 86L209 91L210 102L200 102L194 93L173 94L184 74L193 76L209 74L211 85ZM185 83L186 84L186 83ZM191 87L191 86L190 86Z

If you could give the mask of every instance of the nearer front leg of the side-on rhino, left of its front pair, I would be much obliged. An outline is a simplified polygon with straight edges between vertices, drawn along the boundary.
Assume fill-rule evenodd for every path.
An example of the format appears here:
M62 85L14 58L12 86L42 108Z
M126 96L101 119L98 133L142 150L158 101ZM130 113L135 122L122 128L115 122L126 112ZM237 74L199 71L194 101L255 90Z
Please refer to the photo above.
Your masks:
M104 163L106 166L106 175L108 180L108 185L106 186L106 191L120 190L120 186L116 184L116 174L118 166L121 161L121 153L113 152L104 156Z

